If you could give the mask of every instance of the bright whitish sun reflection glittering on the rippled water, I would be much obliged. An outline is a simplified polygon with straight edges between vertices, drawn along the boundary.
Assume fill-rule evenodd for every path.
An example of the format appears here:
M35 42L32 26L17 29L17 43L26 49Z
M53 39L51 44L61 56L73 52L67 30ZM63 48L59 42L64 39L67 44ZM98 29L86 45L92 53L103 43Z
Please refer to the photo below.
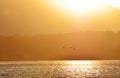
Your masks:
M72 76L84 77L84 76L98 76L101 71L99 70L100 65L96 66L98 61L65 61L64 64L67 64L66 71L69 71L68 74L73 74ZM97 68L96 68L97 67ZM64 69L64 66L62 67ZM77 77L77 78L78 78Z

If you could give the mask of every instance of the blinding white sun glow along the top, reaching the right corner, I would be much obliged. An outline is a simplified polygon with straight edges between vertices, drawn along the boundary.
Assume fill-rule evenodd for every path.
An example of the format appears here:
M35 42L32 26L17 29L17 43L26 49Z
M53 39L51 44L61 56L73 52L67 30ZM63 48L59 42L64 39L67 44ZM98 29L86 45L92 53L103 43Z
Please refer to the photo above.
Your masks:
M111 5L120 8L119 0L47 0L47 2L70 16L89 16L108 11L105 7Z

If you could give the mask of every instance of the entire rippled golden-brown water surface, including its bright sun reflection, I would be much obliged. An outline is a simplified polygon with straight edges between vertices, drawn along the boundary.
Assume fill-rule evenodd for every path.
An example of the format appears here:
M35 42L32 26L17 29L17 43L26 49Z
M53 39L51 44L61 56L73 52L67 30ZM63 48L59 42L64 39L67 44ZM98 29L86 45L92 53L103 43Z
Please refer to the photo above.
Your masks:
M0 78L120 78L120 60L0 62Z

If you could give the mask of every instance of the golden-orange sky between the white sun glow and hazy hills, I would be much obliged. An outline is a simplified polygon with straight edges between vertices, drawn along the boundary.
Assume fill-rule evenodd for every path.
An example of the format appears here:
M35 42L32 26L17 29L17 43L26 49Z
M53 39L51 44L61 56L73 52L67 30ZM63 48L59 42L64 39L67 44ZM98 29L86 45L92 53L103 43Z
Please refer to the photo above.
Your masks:
M0 34L50 34L80 30L120 30L120 10L72 18L43 0L0 0Z

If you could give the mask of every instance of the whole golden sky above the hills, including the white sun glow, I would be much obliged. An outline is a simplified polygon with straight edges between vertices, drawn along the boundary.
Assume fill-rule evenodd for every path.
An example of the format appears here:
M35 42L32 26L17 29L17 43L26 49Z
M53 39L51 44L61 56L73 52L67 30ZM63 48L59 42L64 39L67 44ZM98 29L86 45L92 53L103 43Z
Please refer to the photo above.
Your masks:
M79 3L70 4L72 0L61 0L61 3L59 1L0 0L0 34L31 35L80 30L120 30L118 0L114 3L112 0L106 0L107 3L113 4L98 7L93 0L86 0L78 9L75 5ZM93 3L95 5L91 6ZM71 5L72 7L69 7ZM79 13L81 14L77 15Z

